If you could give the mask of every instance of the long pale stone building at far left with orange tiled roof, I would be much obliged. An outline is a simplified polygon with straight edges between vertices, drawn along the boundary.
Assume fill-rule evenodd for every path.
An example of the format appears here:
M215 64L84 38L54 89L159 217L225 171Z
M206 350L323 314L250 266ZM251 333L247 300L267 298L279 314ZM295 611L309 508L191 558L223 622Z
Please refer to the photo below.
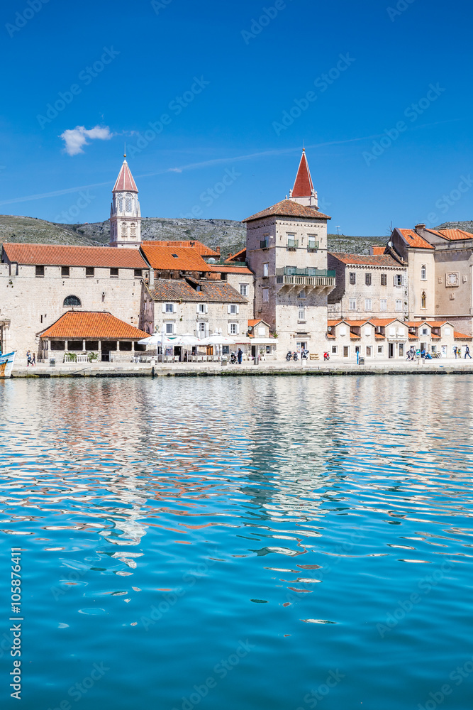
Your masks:
M40 351L40 332L73 309L106 311L138 327L148 263L138 249L4 244L1 348Z

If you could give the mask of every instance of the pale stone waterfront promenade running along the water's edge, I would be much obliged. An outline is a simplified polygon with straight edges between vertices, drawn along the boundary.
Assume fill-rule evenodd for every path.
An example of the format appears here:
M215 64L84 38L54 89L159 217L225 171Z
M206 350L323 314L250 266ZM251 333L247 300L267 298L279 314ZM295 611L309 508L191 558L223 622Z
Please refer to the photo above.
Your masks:
M16 364L13 378L50 377L133 377L133 376L249 376L249 375L396 375L396 374L473 374L473 361L438 359L418 361L374 360L364 365L355 362L333 361L260 361L255 365L220 363L64 363L55 367L40 363L35 367Z

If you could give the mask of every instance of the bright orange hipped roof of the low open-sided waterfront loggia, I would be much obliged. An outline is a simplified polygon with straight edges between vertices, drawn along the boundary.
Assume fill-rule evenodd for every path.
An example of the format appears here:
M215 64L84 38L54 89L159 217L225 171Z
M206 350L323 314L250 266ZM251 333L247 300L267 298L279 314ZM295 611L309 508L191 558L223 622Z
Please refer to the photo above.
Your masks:
M148 337L148 333L108 312L67 311L40 336L50 339L140 340Z

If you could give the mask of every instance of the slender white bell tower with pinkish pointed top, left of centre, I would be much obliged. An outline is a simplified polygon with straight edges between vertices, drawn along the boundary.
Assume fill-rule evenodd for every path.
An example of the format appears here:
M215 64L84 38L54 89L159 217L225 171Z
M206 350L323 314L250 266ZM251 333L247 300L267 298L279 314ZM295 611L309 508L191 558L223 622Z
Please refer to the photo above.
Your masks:
M126 158L126 155L125 155ZM133 175L123 160L112 190L110 209L110 246L141 246L141 210L138 188Z

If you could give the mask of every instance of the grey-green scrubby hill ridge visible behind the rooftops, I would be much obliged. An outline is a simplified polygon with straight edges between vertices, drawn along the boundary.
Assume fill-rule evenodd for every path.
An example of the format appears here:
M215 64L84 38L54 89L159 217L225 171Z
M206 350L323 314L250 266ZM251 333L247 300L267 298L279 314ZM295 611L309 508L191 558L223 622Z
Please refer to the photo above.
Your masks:
M435 229L464 229L473 232L473 220L445 222ZM245 246L246 228L233 219L185 219L143 217L143 241L172 241L198 239L211 249L220 247L223 257L240 251ZM69 244L75 246L104 246L110 238L110 222L59 224L36 217L0 215L0 241L26 244ZM372 246L384 246L387 236L347 236L328 234L328 251L369 254Z

